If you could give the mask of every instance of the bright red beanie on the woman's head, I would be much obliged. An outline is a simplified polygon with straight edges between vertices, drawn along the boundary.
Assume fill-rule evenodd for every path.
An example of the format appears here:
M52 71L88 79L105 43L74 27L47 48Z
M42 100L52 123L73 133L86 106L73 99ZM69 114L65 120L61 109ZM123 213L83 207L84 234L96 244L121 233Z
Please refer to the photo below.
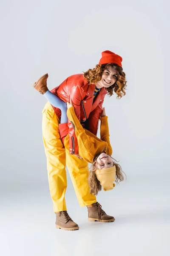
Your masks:
M115 54L111 51L104 51L102 52L102 58L99 61L99 64L108 64L108 63L114 63L122 67L122 57Z

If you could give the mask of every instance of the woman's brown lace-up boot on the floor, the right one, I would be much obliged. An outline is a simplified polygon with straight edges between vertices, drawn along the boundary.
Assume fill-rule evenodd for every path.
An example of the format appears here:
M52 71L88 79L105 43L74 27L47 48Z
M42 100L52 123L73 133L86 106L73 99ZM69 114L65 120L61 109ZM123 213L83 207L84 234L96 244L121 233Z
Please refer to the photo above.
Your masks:
M92 204L93 207L88 207L88 221L101 221L101 222L112 222L115 221L113 216L107 215L99 203Z

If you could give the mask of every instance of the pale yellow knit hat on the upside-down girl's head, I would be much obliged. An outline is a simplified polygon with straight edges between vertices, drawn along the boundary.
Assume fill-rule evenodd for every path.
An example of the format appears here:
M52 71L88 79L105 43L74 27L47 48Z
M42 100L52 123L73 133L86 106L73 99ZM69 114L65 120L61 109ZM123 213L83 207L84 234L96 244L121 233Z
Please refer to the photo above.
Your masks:
M116 176L116 166L107 169L97 169L95 173L104 191L112 190L116 186L113 183Z

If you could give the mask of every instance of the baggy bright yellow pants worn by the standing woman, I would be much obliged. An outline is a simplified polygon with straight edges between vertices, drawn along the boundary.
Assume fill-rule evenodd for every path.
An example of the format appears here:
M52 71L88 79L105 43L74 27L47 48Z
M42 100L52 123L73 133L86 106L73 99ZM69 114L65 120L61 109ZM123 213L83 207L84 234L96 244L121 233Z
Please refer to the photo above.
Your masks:
M54 212L66 210L66 165L80 207L96 203L96 197L91 195L89 190L88 163L69 154L68 148L62 145L59 136L59 119L49 102L45 105L42 113L42 137L47 157L48 182Z

